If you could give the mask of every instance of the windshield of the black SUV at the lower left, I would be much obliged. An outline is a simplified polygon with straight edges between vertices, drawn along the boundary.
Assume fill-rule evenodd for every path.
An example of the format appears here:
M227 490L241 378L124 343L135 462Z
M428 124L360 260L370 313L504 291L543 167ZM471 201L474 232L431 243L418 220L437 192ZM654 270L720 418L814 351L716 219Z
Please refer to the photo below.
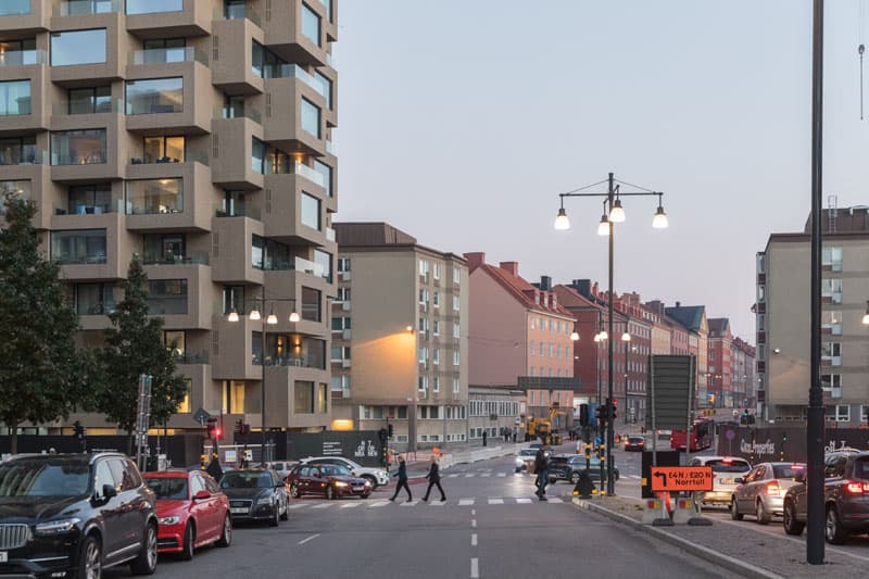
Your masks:
M0 464L0 498L78 496L87 494L90 467L48 461Z

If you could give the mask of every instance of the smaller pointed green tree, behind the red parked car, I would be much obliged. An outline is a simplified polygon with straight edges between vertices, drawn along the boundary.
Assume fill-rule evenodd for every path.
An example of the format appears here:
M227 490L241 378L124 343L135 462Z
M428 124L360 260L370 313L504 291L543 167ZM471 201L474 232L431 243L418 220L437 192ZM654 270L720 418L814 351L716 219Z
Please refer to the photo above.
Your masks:
M105 330L100 355L102 377L96 407L110 423L131 435L136 429L139 375L153 376L152 425L165 424L177 411L187 392L187 382L184 376L175 374L175 358L163 343L163 318L148 314L148 276L136 255L123 289L124 299L109 314L112 327Z

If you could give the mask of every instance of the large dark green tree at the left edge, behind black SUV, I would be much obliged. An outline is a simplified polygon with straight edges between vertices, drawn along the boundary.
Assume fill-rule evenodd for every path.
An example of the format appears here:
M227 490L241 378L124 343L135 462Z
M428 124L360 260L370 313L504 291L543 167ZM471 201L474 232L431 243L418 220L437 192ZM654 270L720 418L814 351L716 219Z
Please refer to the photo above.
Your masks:
M78 317L56 263L46 260L33 227L36 205L14 193L2 200L0 228L0 420L11 429L25 421L50 423L84 410L87 353L76 352Z

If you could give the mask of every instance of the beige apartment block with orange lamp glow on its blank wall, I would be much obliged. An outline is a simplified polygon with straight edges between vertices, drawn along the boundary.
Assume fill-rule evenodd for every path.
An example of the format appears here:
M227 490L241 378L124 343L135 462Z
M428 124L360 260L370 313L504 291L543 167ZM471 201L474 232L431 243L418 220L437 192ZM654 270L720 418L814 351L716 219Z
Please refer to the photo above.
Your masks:
M468 269L386 223L337 223L336 430L392 426L399 450L466 442Z

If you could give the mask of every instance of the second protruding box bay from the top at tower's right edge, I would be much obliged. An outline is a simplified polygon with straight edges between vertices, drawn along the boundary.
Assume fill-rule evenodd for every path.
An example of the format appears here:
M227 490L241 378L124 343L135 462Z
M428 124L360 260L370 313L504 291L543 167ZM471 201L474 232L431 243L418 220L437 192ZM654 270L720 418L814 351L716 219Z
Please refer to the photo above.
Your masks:
M304 74L304 77L313 80L313 77L302 71L299 66L289 65L294 75ZM323 111L326 110L326 99L313 88L312 84L305 81L302 76L287 76L285 78L267 78L265 80L265 95L261 100L267 105L265 111L265 133L264 138L270 144L287 151L301 152L322 156L326 154L326 126ZM322 88L322 87L320 87ZM302 123L302 102L303 99L319 109L317 129L315 133L305 130Z

